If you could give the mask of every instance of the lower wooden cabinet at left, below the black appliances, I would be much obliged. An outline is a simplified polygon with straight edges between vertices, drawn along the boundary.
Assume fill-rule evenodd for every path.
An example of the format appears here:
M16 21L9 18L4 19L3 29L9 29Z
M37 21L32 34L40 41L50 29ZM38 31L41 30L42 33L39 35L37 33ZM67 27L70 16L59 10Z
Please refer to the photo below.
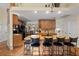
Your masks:
M13 47L23 45L22 35L21 34L13 34Z

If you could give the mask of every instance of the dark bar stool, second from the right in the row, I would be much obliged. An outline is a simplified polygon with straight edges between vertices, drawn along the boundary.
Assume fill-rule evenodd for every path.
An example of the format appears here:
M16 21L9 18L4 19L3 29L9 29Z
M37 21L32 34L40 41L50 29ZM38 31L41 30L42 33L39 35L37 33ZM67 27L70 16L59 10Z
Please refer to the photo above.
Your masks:
M56 55L58 55L58 56L59 56L59 52L61 51L61 50L59 50L60 47L63 49L62 55L64 55L64 45L63 45L64 39L65 39L65 37L63 37L63 38L57 37L57 41L53 42L53 45L56 46L56 50L55 50Z

